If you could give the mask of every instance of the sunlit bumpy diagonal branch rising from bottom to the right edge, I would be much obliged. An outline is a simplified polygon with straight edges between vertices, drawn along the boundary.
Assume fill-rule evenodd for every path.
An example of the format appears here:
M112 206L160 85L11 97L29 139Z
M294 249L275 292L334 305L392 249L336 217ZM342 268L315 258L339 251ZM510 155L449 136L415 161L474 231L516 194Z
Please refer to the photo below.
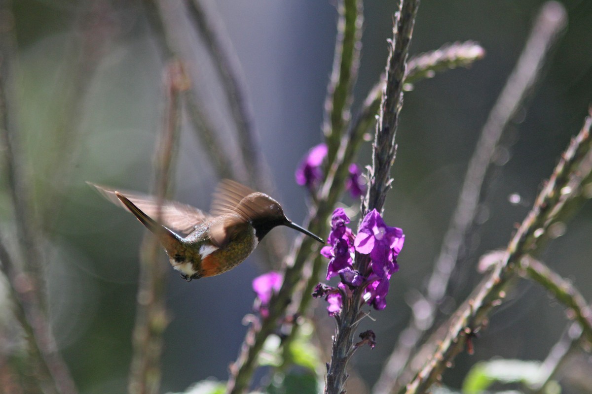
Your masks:
M460 351L466 336L480 327L493 307L506 297L511 279L516 277L516 266L525 255L536 255L542 246L549 224L564 213L566 203L576 196L579 186L590 178L592 170L592 109L585 119L584 127L572 139L562 154L551 178L546 183L535 205L512 237L500 263L475 289L473 294L458 308L451 319L446 336L437 342L430 360L417 372L413 380L400 392L424 393L440 379L443 371ZM435 346L428 343L427 347Z

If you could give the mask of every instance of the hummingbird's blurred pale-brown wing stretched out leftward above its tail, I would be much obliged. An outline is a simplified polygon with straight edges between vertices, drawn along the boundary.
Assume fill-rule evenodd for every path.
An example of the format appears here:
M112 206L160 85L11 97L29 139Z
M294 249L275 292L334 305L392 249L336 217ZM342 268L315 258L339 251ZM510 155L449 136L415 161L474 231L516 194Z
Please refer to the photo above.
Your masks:
M92 187L101 193L107 200L111 201L117 206L128 209L117 197L115 192L127 197L134 205L136 205L147 216L156 219L158 216L158 203L155 197L146 194L140 194L133 191L126 191L121 189L114 189L102 185L87 182ZM200 224L210 219L210 216L203 213L201 210L187 204L181 204L176 201L164 200L160 208L160 223L175 232L189 234Z

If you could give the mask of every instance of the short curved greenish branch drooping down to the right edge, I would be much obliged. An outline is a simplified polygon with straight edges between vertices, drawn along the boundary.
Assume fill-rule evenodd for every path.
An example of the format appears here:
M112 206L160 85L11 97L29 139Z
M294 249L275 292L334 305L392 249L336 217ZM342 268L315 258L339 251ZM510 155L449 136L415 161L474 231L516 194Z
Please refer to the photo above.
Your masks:
M538 282L568 308L570 319L581 325L584 337L592 344L592 309L588 307L580 291L570 281L531 256L524 256L520 261L520 268L520 271L524 270L520 272L522 276Z

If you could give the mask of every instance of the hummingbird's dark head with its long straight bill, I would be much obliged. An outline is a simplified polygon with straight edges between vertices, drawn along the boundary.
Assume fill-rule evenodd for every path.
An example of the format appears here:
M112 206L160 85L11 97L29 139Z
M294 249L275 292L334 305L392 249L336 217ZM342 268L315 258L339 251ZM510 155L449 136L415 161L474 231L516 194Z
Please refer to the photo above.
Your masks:
M249 220L259 241L274 227L288 226L324 243L320 237L298 224L292 223L284 214L284 209L278 201L265 193L256 192L244 197L236 206L235 211Z

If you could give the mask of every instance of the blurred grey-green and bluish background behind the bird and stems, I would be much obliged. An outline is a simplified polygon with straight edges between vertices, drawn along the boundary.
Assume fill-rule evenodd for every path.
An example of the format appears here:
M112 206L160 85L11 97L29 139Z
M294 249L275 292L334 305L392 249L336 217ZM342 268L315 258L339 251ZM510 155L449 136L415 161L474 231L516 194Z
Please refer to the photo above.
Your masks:
M336 9L329 0L275 2L227 0L207 3L226 28L246 82L246 95L258 131L260 154L271 168L273 190L288 217L302 223L307 193L294 171L311 146L321 142L323 103L333 61ZM367 385L378 377L398 333L406 327L407 301L422 288L439 253L478 133L516 63L542 1L424 0L411 53L453 41L475 40L486 56L471 69L439 73L406 93L397 133L394 188L385 221L402 227L406 244L401 269L391 284L388 307L372 312L361 329L377 334L374 350L362 349L353 367ZM453 278L462 300L479 281L473 268L482 253L507 245L551 174L559 154L583 124L592 99L592 2L566 0L568 27L545 67L527 106L503 138L503 159L488 180L480 225L471 232ZM387 57L395 2L364 6L361 69L355 109L377 82ZM153 145L162 128L163 56L139 1L18 0L14 27L9 109L18 130L21 161L33 180L36 214L43 220L44 260L54 332L82 393L124 392L131 361L139 247L144 229L130 214L98 196L85 181L146 192L152 179ZM166 12L178 27L175 40L192 40L185 53L192 85L224 144L237 148L220 80L204 43L187 26L179 2ZM210 206L217 175L207 147L184 118L174 174L175 198L201 209ZM358 157L369 164L370 144ZM60 160L67 155L66 163ZM241 171L239 168L237 171ZM244 169L242 170L244 173ZM515 194L513 203L510 196ZM49 198L51 197L51 198ZM346 197L346 204L354 204ZM0 213L11 233L8 196L2 187ZM543 261L572 279L592 300L592 208L588 205L554 240ZM296 236L285 232L288 240ZM321 235L326 236L326 235ZM289 246L287 246L288 248ZM165 259L165 253L162 253ZM233 271L185 282L170 269L167 307L172 320L165 333L162 392L181 391L192 382L226 380L252 311L252 279L262 273L253 253ZM2 301L1 318L11 320ZM451 300L451 302L453 302ZM332 318L318 304L317 323ZM450 305L449 305L450 306ZM462 354L445 382L458 387L477 360L500 356L542 360L561 336L564 310L536 285L520 282L475 342L474 356ZM573 390L573 391L570 391ZM577 387L565 392L579 392Z

